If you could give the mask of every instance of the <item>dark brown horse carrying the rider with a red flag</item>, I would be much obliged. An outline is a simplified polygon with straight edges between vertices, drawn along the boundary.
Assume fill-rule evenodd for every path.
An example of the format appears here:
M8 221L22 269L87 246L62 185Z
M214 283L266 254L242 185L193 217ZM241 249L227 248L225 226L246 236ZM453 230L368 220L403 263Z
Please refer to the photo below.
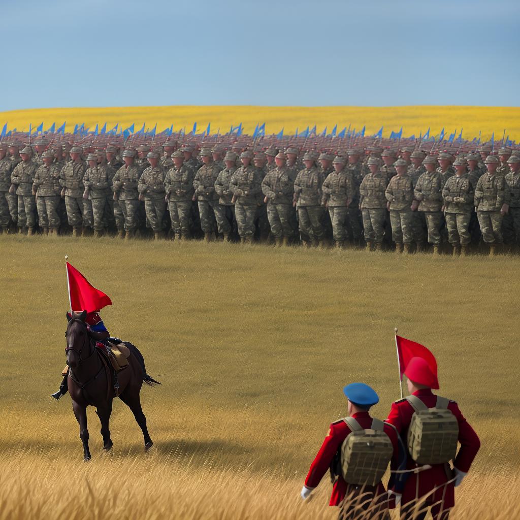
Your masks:
M84 460L90 460L88 449L87 406L95 406L101 422L103 451L110 451L112 440L108 423L112 413L112 400L115 395L112 383L112 372L108 363L102 359L103 354L95 346L96 332L90 332L85 323L87 313L72 313L67 324L67 365L69 365L68 387L72 397L72 409L80 424L80 438L83 441ZM142 413L139 392L142 383L150 386L159 383L152 379L145 369L145 360L135 345L124 343L131 352L128 366L118 372L120 386L119 398L132 410L137 424L145 437L145 451L153 443L146 427L146 417Z

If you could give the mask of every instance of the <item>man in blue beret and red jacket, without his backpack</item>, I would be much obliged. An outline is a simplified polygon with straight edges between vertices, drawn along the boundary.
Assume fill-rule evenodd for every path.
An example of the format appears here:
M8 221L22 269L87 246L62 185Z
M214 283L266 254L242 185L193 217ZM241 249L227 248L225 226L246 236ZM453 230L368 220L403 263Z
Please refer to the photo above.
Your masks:
M370 407L379 402L379 397L375 391L363 383L352 383L343 388L347 397L347 407L350 417L356 419L362 428L371 428L372 418L370 417ZM384 424L386 435L392 441L394 448L391 460L391 470L404 470L406 466L406 449L392 425ZM340 450L343 441L351 433L349 426L343 420L333 422L330 425L329 433L310 465L309 473L305 479L302 489L302 498L305 500L311 491L318 486L320 480L330 469L331 480L333 482L332 496L329 505L340 505L341 519L361 518L366 513L363 510L370 508L370 518L386 519L388 509L395 507L394 497L388 498L385 487L381 482L376 486L355 486L347 484L341 475L338 467L340 460ZM399 494L404 485L404 473L392 473L388 487ZM346 497L346 498L345 498Z

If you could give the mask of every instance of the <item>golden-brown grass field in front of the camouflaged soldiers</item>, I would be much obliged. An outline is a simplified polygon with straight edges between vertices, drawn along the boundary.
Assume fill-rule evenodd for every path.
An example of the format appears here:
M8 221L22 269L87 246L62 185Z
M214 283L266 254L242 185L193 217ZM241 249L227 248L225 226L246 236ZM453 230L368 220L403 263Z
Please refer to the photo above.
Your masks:
M83 462L64 364L64 255L113 306L163 383L141 396L155 447L114 403L113 452ZM520 517L518 261L213 242L0 237L0 519L335 518L330 484L302 502L343 385L399 398L393 331L437 357L440 395L482 440L451 518ZM397 516L395 516L397 518Z

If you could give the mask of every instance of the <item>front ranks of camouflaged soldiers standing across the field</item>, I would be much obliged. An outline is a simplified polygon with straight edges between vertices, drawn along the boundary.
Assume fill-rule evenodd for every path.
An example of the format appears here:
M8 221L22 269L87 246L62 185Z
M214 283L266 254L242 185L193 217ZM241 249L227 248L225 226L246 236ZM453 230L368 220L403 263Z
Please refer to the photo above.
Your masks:
M374 250L392 239L398 253L430 243L435 254L443 241L453 254L484 241L495 254L520 238L520 154L508 148L454 157L372 146L301 159L293 147L253 152L239 144L201 148L196 158L196 148L175 141L120 155L111 145L52 148L44 140L20 148L0 145L4 232L16 222L32 235L37 222L50 235L68 224L73 235L93 228L95 236L116 230L132 238L149 227L159 239L169 216L174 239L198 229L206 240L216 231L227 241L238 233L243 242L270 235L279 244L299 236L323 245L331 236L338 248L364 238Z

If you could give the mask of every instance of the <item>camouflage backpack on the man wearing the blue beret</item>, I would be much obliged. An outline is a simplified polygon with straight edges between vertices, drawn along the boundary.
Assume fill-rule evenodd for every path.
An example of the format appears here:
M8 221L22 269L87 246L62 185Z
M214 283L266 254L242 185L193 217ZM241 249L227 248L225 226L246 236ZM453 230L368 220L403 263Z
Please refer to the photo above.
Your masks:
M383 431L383 421L372 419L371 428L367 430L353 417L346 417L343 421L351 430L341 445L341 473L345 482L377 485L394 452L392 441Z

